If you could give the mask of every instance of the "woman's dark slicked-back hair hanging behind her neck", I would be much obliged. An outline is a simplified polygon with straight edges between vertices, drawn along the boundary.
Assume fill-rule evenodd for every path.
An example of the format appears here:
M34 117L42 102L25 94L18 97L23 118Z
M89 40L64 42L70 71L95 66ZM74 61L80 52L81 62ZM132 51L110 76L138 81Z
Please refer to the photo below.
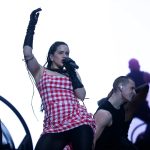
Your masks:
M46 61L46 64L47 64L46 68L47 69L50 69L51 68L51 64L52 64L52 61L50 59L50 55L51 54L53 55L55 53L55 51L57 50L58 46L60 46L60 45L66 45L66 46L68 46L65 42L56 41L49 48L48 55L47 55L47 61Z

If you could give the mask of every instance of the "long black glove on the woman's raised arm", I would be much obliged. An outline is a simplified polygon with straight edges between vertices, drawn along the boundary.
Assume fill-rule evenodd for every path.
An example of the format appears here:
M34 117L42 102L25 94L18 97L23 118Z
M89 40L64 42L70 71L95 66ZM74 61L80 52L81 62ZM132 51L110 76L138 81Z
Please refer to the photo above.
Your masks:
M31 48L33 47L33 35L34 35L35 25L37 24L39 11L41 10L42 10L41 8L38 8L32 11L23 46L28 45Z

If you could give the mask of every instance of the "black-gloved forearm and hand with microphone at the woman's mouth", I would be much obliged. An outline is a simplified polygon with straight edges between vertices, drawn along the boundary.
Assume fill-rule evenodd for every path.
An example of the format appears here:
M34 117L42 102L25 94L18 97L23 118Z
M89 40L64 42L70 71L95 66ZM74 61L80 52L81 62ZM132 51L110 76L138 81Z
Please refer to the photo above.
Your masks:
M64 66L69 74L69 77L72 81L72 86L73 89L77 89L77 88L83 88L83 84L81 83L81 81L78 79L77 74L75 69L78 69L79 67L77 66L77 64L75 63L75 61L73 61L71 58L65 58L63 60Z

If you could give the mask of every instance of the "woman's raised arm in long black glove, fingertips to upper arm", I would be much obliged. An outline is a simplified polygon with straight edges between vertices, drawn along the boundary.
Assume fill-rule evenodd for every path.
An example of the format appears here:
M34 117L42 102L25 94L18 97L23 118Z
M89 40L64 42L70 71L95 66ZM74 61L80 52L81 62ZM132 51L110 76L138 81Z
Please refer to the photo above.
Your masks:
M39 11L41 11L41 8L32 11L30 15L30 21L28 24L28 28L27 28L27 32L23 44L24 59L33 77L36 77L40 70L40 65L32 53L33 36L34 36L35 26L37 24L38 17L39 17Z

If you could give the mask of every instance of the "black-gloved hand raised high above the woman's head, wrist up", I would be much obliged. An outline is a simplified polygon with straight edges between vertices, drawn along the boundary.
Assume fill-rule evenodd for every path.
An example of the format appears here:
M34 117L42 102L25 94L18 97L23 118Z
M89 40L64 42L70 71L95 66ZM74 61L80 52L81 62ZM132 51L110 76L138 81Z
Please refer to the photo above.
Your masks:
M41 8L37 8L33 10L32 13L30 14L30 22L32 25L36 25L38 18L39 18L39 12L41 10L42 10Z

